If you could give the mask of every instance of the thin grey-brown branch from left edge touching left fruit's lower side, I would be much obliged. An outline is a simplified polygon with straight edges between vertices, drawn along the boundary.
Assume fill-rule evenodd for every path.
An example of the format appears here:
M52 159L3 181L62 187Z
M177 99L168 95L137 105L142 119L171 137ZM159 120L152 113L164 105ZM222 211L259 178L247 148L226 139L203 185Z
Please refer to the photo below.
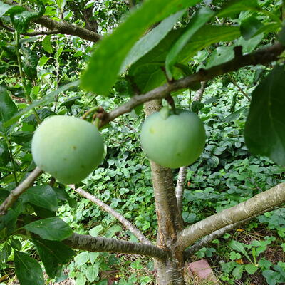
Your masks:
M8 197L4 200L4 202L0 205L0 217L6 214L9 207L14 204L16 199L24 193L33 182L36 180L36 178L41 175L42 170L40 170L38 167L36 167L29 175L26 177L26 179L21 182L14 190L12 190Z

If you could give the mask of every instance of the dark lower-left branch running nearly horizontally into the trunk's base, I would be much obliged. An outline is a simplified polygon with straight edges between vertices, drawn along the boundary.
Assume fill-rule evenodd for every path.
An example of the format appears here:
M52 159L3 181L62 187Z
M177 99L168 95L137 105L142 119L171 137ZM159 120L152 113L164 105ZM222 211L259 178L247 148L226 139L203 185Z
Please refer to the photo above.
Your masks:
M169 253L151 244L137 244L125 242L119 239L105 237L91 237L84 234L73 234L63 241L73 249L86 250L88 252L118 252L123 254L140 254L157 259L167 259Z

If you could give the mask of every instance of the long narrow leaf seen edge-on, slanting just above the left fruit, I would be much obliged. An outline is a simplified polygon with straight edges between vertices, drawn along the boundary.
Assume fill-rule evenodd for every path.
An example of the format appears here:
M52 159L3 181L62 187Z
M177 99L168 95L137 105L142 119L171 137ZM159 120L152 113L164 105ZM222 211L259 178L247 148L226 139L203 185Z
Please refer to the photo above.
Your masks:
M32 108L35 108L38 106L44 106L44 105L47 105L48 103L51 103L55 95L58 95L68 90L71 87L77 87L78 84L79 84L78 80L73 81L64 86L61 86L55 91L51 91L51 93L48 93L48 95L45 95L43 99L34 101L31 105L28 105L27 108L25 108L24 110L21 110L19 113L16 113L16 115L14 115L12 118L10 117L9 120L6 120L6 122L4 123L4 127L9 127L10 125L16 123L16 121L19 120L19 118L21 118L22 115L28 113L28 111L30 111ZM1 94L1 87L0 87L0 94ZM0 99L0 104L1 104L1 99ZM1 105L0 105L0 112L1 112Z

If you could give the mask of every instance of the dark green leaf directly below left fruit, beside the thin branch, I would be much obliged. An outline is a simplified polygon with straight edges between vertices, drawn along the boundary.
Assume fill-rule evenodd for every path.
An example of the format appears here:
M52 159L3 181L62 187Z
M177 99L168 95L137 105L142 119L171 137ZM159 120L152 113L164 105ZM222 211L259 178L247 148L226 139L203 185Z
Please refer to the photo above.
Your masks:
M21 195L21 199L24 202L29 202L52 212L58 210L56 192L49 185L31 187Z

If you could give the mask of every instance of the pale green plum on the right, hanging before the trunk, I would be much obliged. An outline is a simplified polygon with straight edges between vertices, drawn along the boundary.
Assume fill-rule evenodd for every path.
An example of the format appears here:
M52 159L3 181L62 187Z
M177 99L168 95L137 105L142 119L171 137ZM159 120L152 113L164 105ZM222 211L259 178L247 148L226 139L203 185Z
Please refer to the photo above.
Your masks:
M140 142L150 160L170 168L191 165L204 149L204 125L199 117L186 110L162 118L159 112L146 118Z

